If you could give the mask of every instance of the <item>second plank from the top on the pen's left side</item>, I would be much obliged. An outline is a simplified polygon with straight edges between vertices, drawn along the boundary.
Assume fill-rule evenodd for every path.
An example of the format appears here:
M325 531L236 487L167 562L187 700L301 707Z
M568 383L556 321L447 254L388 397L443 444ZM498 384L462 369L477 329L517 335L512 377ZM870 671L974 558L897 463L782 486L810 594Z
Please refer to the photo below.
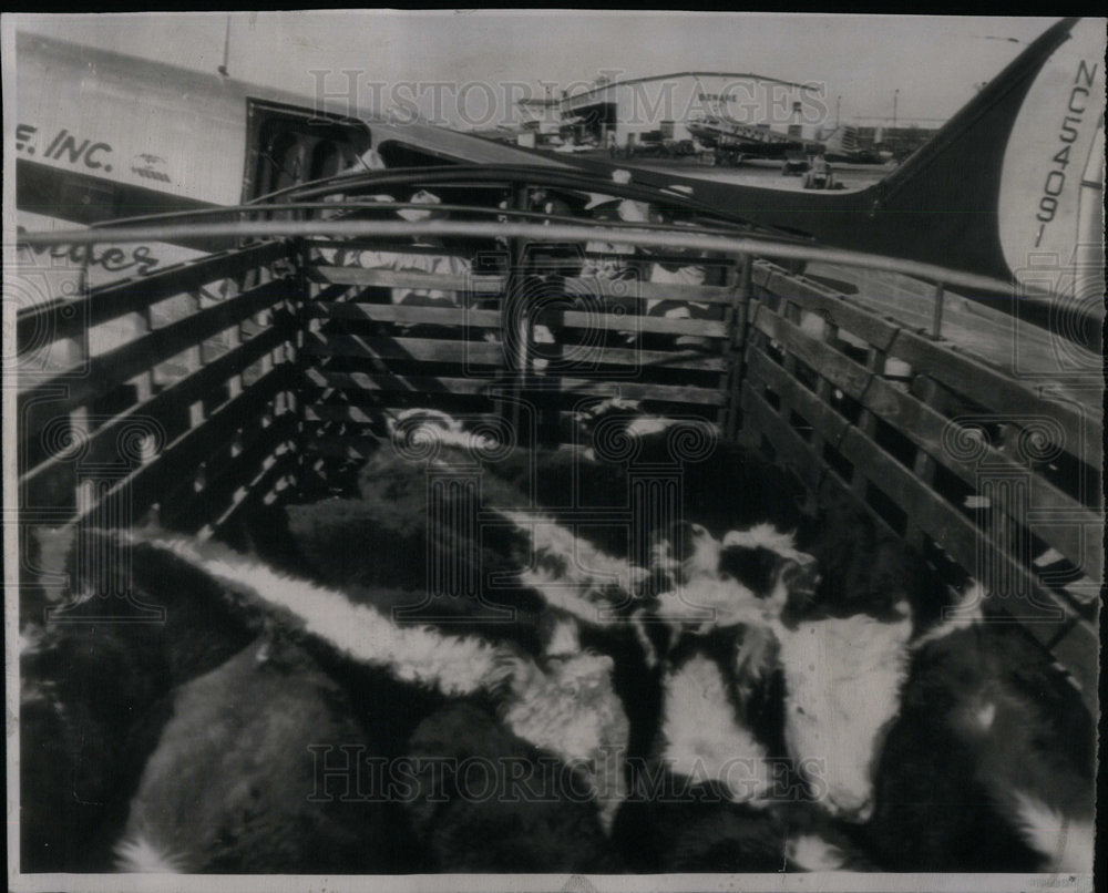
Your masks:
M222 304L206 307L114 350L91 358L88 362L88 372L82 372L80 377L70 370L22 391L18 397L19 403L35 401L37 396L44 389L55 388L59 383L64 383L69 393L63 400L58 401L57 411L65 412L75 409L93 398L107 393L163 360L175 357L186 348L273 307L288 297L293 288L295 288L294 284L277 280L245 291ZM20 435L25 440L34 433L37 433L35 430L24 430L20 432Z

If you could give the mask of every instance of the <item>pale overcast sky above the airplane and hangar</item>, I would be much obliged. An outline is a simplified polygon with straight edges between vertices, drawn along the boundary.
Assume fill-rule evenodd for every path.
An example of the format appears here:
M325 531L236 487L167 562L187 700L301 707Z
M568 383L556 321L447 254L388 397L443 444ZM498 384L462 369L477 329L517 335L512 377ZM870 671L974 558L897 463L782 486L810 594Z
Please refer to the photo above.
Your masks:
M357 70L362 83L538 82L561 88L602 72L756 72L827 85L842 119L946 119L1055 19L574 11L237 13L230 74L311 95L311 71ZM188 68L223 61L227 16L23 16L19 30ZM327 81L340 89L346 75ZM386 88L387 90L390 88ZM427 88L419 88L425 92ZM360 92L372 105L371 90ZM451 103L443 103L448 116Z

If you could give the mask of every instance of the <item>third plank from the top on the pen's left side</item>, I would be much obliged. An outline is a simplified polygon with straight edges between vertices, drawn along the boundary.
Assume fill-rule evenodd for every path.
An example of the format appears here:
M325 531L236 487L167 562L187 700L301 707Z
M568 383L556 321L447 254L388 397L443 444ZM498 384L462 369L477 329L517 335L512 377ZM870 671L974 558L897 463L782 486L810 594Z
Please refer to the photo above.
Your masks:
M259 357L276 349L287 337L285 327L273 326L229 353L225 353L187 378L175 382L146 402L136 403L93 432L89 439L90 452L94 455L99 454L114 443L129 422L135 418L152 418L160 421L177 411L182 406L202 399L205 393L227 381L237 371L245 369ZM48 479L59 475L71 478L73 474L72 464L72 461L66 459L47 459L20 479L20 486L33 487L34 492L40 492L40 487Z

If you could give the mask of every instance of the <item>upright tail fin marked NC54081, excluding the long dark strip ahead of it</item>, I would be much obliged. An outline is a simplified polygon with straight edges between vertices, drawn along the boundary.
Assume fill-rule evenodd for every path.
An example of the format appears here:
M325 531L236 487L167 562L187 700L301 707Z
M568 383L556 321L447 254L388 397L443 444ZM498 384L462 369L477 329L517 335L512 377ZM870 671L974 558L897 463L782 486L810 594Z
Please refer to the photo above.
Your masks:
M871 215L911 224L891 236L917 259L1084 294L1104 265L1104 20L1051 25L865 191Z

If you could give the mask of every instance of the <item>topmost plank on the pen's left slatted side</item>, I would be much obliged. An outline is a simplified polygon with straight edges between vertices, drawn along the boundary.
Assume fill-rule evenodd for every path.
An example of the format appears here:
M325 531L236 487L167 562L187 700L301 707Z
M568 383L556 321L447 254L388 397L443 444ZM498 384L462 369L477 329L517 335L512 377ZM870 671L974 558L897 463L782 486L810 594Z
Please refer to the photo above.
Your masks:
M78 337L89 326L98 326L142 310L173 295L192 291L217 279L233 278L246 270L271 264L287 257L289 250L287 243L268 242L222 252L199 260L175 264L148 276L131 277L122 283L95 288L82 301L62 300L44 307L29 308L17 318L17 342L25 345L39 331L52 332L52 340Z

